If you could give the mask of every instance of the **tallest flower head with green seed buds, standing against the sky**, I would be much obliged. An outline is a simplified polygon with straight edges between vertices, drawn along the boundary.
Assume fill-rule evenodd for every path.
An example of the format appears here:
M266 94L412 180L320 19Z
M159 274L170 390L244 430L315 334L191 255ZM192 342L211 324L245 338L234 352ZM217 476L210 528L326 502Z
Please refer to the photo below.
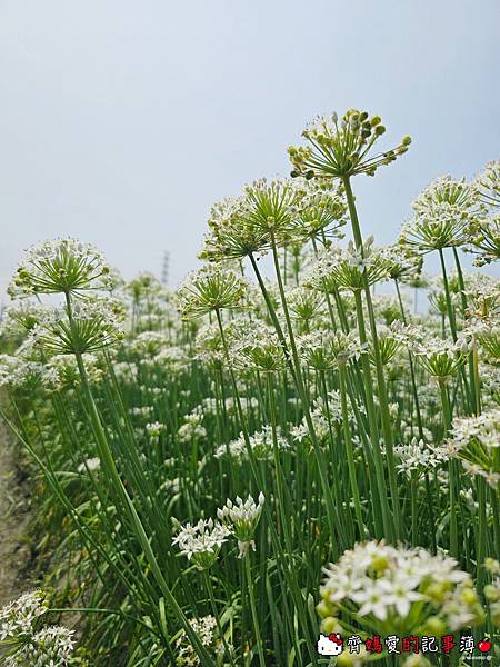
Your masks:
M316 118L302 132L308 146L289 147L292 177L347 178L358 173L373 176L382 165L407 152L410 137L388 151L371 155L376 141L386 132L379 116L349 109L341 119L337 113Z

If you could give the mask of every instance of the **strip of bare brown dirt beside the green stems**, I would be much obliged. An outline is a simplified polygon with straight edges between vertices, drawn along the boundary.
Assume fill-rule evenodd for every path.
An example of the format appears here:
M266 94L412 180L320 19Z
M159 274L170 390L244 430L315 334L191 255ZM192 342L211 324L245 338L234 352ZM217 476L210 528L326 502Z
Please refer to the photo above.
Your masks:
M20 482L13 447L0 422L0 607L30 588L26 567L28 502Z

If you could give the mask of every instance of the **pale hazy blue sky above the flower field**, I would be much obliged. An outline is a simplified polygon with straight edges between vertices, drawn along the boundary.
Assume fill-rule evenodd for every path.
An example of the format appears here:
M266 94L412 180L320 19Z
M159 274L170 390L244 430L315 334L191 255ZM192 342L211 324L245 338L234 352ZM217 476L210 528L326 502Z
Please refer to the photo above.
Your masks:
M0 295L57 236L131 277L196 266L212 202L286 175L314 115L410 151L354 188L393 239L433 177L498 159L499 0L0 0Z

